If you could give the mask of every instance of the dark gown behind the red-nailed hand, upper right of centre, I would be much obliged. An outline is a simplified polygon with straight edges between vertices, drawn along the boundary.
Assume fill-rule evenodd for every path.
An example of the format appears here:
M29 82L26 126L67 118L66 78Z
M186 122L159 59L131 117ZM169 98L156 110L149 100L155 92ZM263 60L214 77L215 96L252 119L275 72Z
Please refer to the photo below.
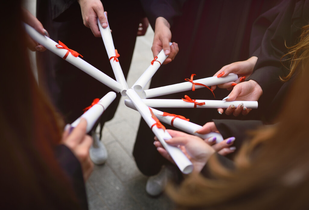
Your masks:
M162 65L151 80L150 88L184 82L192 73L194 79L211 77L222 66L249 57L250 31L254 20L276 1L186 1L182 15L173 19L172 40L178 43L179 53L170 64ZM175 9L177 11L178 8ZM155 11L153 11L155 13ZM160 14L164 17L163 14ZM227 90L217 88L214 93L220 100ZM181 99L187 94L192 99L214 99L206 88L157 97ZM216 109L160 108L160 111L183 115L191 122L205 124L219 116ZM226 117L226 115L224 116ZM170 126L167 128L174 129ZM159 172L167 161L157 152L154 134L141 120L133 156L145 175Z

